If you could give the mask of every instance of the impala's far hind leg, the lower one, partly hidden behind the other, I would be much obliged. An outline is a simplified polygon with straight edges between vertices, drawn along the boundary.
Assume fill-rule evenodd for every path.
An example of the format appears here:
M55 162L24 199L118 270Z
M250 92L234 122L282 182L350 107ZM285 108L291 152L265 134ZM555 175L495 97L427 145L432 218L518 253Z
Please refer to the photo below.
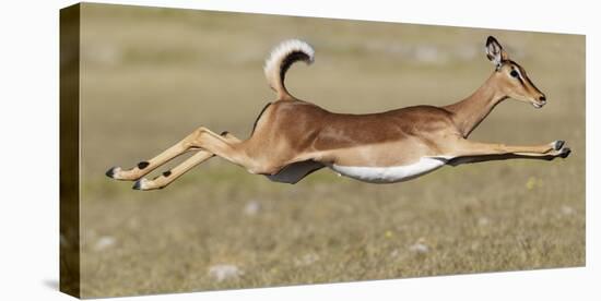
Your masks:
M236 136L229 134L228 132L224 132L221 134L223 137L225 137L227 141L232 143L239 143L240 140ZM154 178L153 180L148 180L145 178L141 178L140 180L135 181L133 184L133 189L137 190L155 190L155 189L163 189L170 184L173 181L181 177L184 173L186 173L188 170L192 169L197 165L204 162L205 160L212 158L214 155L210 152L207 152L204 149L198 150L193 156L186 159L181 164L174 167L172 170L164 171L158 177Z

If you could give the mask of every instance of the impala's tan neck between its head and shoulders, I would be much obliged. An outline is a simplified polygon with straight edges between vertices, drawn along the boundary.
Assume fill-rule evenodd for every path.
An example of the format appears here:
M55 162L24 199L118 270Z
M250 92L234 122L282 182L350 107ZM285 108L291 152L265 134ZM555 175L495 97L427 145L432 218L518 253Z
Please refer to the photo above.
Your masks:
M494 72L493 75L491 75L491 77L468 98L445 107L445 109L453 113L453 121L463 137L468 137L480 122L488 116L493 108L507 98L507 96L500 92L496 82L496 72Z

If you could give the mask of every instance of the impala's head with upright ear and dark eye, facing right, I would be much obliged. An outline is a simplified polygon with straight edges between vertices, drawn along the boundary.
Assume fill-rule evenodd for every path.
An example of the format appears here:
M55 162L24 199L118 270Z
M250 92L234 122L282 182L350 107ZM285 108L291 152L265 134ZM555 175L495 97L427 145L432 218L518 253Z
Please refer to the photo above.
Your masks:
M486 57L495 65L493 75L497 86L507 97L542 108L546 104L544 94L528 79L526 70L509 59L500 44L492 36L486 39Z

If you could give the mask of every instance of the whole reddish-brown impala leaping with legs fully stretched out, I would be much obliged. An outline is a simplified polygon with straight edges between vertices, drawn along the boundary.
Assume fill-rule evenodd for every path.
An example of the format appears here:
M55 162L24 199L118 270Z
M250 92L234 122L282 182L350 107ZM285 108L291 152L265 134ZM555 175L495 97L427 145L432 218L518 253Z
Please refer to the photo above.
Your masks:
M327 111L288 93L284 86L286 71L296 61L310 64L315 51L304 41L287 40L274 48L266 61L264 74L278 93L278 100L263 108L249 139L243 141L228 132L216 134L201 127L156 157L128 170L114 167L106 174L117 180L137 180L133 189L162 189L192 167L219 156L276 182L296 183L328 167L360 181L393 183L444 165L567 157L570 149L563 141L512 146L468 140L491 110L507 98L530 103L535 108L546 104L544 94L494 37L487 38L485 49L495 70L480 88L459 103L349 115ZM197 153L153 180L142 178L188 150Z

